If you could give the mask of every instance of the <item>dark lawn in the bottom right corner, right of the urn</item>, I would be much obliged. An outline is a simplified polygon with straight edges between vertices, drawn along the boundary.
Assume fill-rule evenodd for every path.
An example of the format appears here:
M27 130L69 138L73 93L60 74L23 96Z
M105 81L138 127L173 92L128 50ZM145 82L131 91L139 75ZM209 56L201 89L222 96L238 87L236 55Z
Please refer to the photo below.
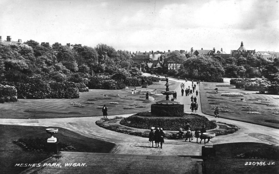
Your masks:
M278 160L263 159L236 159L237 154L245 153L250 150L268 149L270 145L254 142L226 143L214 145L216 156L204 159L206 174L227 174L227 173L278 173ZM274 147L279 150L278 146ZM246 162L275 162L275 165L245 165ZM249 164L249 163L248 163Z

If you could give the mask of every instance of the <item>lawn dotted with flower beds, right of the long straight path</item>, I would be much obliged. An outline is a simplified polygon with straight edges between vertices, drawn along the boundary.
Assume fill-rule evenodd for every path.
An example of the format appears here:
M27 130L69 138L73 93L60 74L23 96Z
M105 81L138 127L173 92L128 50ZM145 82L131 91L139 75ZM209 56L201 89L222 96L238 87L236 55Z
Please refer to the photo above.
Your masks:
M228 87L223 87L228 88ZM219 88L218 88L219 89ZM218 90L219 91L219 90ZM227 91L227 90L226 90ZM238 92L245 92L238 90ZM270 126L273 128L279 128L278 124L278 115L272 114L276 112L276 109L279 109L279 100L277 95L264 95L264 94L246 94L243 97L225 97L221 96L223 93L219 91L217 94L215 92L209 91L200 91L202 98L202 111L205 114L214 115L214 110L210 109L211 107L216 106L217 104L209 104L212 102L219 102L219 105L223 105L224 110L231 110L233 112L219 112L222 118L228 118L233 120L240 120L265 126ZM222 99L221 99L222 98ZM239 101L240 98L244 98L245 102L232 102L232 100ZM258 100L261 98L261 100ZM247 107L243 108L242 104L246 104ZM267 106L268 104L274 104L276 106ZM274 109L274 110L268 110ZM248 114L249 109L257 111L260 114Z

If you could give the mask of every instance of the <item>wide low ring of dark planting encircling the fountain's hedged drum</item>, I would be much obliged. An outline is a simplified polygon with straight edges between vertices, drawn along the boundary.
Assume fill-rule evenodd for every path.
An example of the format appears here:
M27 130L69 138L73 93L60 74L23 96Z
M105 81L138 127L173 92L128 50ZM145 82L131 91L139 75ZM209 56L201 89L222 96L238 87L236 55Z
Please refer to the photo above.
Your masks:
M150 129L151 127L163 128L163 130L177 131L179 128L186 129L186 122L191 126L191 130L201 129L202 125L207 130L214 129L217 125L209 121L205 116L198 114L185 114L183 117L154 117L149 112L137 113L135 115L124 118L120 124L132 127Z

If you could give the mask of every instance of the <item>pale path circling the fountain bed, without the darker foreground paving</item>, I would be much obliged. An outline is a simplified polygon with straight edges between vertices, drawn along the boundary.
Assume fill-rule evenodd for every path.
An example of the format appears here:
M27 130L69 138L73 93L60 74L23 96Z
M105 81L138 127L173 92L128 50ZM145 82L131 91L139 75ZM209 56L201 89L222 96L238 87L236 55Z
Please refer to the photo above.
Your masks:
M176 80L170 78L170 80L177 82L185 82L184 80ZM186 82L186 87L191 86L191 82ZM178 94L177 100L184 104L184 111L190 111L190 97L181 96L180 86L176 89ZM194 93L195 94L195 93ZM200 98L198 95L198 104L201 106ZM278 129L269 128L265 126L259 126L250 123L244 123L240 121L227 120L223 118L214 118L213 116L205 115L201 112L201 107L197 110L197 114L206 116L209 120L216 120L237 125L240 130L236 133L218 136L211 141L213 144L222 144L229 142L259 142L271 145L279 145L279 132ZM127 117L132 114L117 115ZM116 115L108 116L113 118ZM26 126L52 126L62 127L79 133L81 135L97 138L100 140L115 143L116 146L111 150L111 153L119 154L154 154L154 155L201 155L201 146L203 144L193 142L185 142L184 140L165 140L163 149L149 148L148 138L137 137L118 133L101 128L95 124L95 121L100 120L98 117L76 117L76 118L55 118L55 119L0 119L0 124L10 125L26 125Z

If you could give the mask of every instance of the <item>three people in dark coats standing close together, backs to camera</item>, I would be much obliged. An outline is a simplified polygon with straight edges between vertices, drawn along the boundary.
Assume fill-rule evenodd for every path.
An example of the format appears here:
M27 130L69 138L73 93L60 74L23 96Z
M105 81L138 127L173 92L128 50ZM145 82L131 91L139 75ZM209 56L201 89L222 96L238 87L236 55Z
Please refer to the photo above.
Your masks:
M159 143L161 145L161 149L163 148L163 143L165 142L164 141L164 135L165 133L163 132L163 129L162 128L157 128L155 131L153 131L153 129L150 129L150 132L149 132L149 142L150 142L150 148L151 147L154 147L153 146L153 141L155 141L155 147L159 147Z

